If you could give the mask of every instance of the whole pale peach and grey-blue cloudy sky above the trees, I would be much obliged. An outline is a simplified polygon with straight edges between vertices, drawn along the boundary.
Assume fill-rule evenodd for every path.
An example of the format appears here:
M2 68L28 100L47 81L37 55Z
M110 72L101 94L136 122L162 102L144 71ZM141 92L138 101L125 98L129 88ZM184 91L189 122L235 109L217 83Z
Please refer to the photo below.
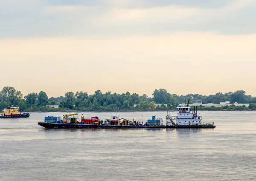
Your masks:
M256 96L256 0L0 0L0 89Z

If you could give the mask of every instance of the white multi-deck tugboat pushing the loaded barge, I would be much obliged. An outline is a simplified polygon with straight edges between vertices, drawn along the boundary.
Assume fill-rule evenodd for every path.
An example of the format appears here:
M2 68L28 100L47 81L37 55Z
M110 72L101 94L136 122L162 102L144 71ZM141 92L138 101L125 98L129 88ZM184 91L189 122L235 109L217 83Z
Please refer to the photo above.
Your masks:
M202 116L197 113L197 106L194 111L190 110L189 101L187 105L180 104L177 106L177 116L166 115L166 128L215 128L214 122L202 122Z

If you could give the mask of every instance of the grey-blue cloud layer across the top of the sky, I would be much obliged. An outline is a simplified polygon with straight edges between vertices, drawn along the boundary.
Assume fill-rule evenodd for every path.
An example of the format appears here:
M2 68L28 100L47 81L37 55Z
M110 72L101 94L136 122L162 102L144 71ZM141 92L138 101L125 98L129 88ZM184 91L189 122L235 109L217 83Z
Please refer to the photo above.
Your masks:
M215 5L212 1L202 0L195 0L194 3L188 0L157 2L0 1L0 38L130 36L175 31L214 31L220 34L256 32L256 24L253 23L256 0L214 1Z

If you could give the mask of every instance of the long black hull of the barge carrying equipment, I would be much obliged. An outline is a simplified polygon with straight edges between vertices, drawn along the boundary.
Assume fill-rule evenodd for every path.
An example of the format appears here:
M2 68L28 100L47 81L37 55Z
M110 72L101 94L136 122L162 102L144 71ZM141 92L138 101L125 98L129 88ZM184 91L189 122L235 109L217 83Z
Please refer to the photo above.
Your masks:
M38 125L47 129L145 129L165 128L166 126L120 126L120 125L96 125L96 124L61 124L38 122Z

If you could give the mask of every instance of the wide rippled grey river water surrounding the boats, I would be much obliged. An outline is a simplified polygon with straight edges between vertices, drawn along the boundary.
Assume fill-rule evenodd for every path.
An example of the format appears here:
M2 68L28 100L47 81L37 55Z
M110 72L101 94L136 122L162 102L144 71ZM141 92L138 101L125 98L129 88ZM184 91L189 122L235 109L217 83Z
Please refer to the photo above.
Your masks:
M202 112L214 129L44 129L0 119L0 181L256 180L256 111ZM81 112L107 119L111 112ZM175 115L176 112L171 112ZM115 112L112 115L116 115ZM118 112L145 122L166 112ZM143 115L143 116L142 116Z

